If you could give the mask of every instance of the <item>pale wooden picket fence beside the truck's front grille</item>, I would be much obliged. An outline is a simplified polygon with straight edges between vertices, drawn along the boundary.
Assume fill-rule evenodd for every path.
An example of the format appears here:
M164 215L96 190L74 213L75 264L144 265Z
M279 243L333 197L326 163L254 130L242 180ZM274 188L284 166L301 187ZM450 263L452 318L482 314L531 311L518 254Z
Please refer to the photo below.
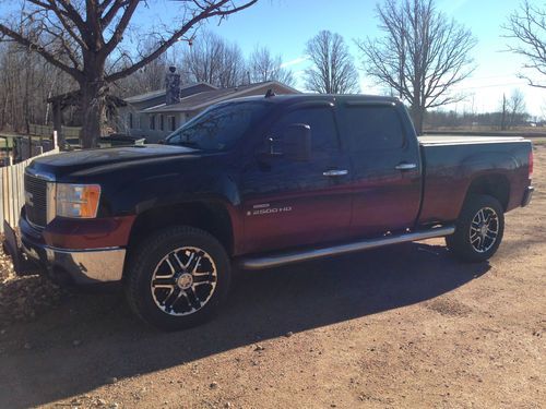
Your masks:
M19 225L19 214L25 204L25 168L37 157L58 153L59 148L55 148L20 164L0 168L0 215L11 227L15 228ZM3 233L3 222L0 222L0 232Z

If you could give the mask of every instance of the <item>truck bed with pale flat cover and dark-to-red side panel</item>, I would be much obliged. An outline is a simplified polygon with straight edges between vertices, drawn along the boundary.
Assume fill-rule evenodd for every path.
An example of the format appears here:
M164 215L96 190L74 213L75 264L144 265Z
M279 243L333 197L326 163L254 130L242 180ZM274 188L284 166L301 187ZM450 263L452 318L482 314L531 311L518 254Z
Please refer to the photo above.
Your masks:
M518 136L426 135L418 136L418 142L424 172L419 224L455 220L470 184L491 173L500 175L510 187L502 203L505 209L521 205L529 185L530 141Z

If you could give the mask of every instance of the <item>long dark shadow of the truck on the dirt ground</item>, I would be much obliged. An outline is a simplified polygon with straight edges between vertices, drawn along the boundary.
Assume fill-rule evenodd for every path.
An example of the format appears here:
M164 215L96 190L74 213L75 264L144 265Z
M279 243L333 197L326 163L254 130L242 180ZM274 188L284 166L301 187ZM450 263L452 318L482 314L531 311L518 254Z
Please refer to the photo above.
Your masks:
M45 405L238 347L438 297L489 269L443 246L408 243L264 272L239 272L221 314L186 332L158 333L118 293L76 294L40 320L9 328L0 354L0 407ZM81 340L75 347L73 340ZM33 348L22 347L29 341Z

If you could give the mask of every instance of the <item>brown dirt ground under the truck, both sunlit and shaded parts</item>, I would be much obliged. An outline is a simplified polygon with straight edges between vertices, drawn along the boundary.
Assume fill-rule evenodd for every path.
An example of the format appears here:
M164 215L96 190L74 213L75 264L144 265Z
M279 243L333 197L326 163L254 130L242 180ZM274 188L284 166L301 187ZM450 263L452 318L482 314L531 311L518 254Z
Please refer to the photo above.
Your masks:
M546 147L535 154L534 201L507 216L489 263L431 240L240 273L215 321L175 334L117 292L38 303L0 322L0 408L543 407Z

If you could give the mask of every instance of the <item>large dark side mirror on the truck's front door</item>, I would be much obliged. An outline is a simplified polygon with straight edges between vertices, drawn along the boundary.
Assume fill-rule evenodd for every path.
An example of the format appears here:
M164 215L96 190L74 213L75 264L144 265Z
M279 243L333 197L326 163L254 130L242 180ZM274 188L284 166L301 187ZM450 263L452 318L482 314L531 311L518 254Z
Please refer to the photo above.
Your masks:
M280 137L268 139L266 156L283 156L290 160L307 161L311 158L311 128L294 123L280 133Z

